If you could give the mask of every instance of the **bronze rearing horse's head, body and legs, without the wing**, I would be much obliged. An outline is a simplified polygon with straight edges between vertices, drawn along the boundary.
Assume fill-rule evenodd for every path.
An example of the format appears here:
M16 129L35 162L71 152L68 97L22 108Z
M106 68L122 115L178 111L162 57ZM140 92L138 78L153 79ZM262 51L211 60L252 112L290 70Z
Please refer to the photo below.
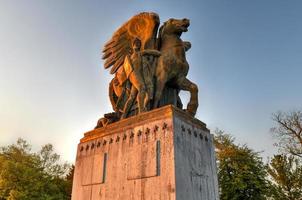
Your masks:
M189 26L188 19L169 19L160 27L158 42L161 56L155 72L156 90L153 107L158 107L167 84L175 89L190 92L191 97L186 111L194 116L198 107L198 87L186 78L189 71L186 51L190 49L191 44L180 38L183 32L188 31Z

